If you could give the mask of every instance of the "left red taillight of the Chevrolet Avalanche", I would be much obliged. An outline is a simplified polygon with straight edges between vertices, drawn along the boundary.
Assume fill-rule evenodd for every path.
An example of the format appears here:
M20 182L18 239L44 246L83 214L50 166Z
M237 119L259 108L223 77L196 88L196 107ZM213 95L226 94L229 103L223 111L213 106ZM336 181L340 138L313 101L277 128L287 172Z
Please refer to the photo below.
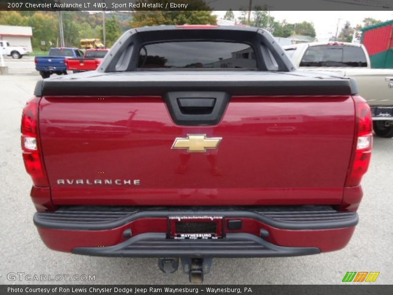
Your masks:
M22 113L22 150L25 168L35 186L49 186L38 142L38 102L31 98Z

